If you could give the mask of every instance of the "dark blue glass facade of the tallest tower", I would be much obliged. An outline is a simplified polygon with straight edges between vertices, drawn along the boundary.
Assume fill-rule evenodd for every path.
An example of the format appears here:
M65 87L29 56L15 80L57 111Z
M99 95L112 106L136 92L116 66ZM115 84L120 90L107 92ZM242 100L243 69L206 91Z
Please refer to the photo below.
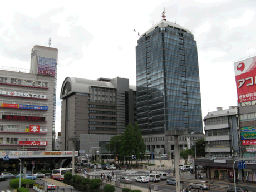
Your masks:
M143 135L203 132L196 41L162 22L137 41L137 122Z

